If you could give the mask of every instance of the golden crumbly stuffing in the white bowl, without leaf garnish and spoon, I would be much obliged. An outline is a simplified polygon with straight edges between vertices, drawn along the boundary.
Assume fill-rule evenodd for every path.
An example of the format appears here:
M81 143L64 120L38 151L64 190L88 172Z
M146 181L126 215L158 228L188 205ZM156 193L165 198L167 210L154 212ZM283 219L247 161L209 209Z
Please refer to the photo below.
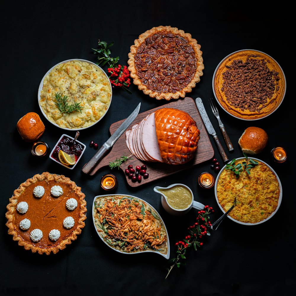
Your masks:
M235 162L242 163L245 159ZM243 223L258 223L268 218L277 208L280 188L276 175L265 163L259 162L244 170L239 177L231 170L224 169L217 183L218 202L226 212L236 201L229 216Z

